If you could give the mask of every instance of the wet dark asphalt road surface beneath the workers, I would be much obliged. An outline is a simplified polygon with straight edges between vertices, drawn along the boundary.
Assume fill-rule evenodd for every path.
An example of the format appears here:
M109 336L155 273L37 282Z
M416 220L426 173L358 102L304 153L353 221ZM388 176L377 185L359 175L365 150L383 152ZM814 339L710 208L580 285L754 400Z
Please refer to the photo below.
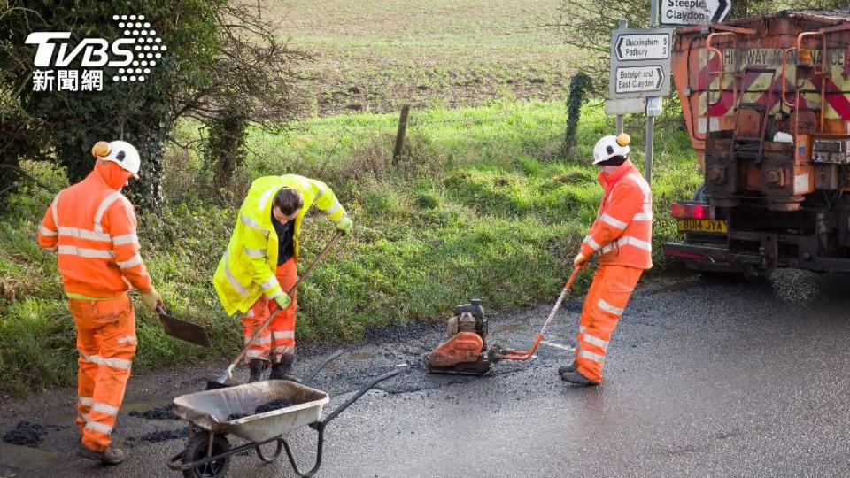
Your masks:
M314 382L332 397L404 372L328 425L321 476L848 476L850 278L782 272L765 285L680 276L644 283L610 347L597 388L555 374L571 354L580 300L568 302L548 343L524 364L481 378L427 375L421 355L443 326L385 328ZM554 299L554 297L552 297ZM526 347L548 305L491 317L491 339ZM141 344L143 346L143 344ZM302 351L306 370L332 347ZM75 428L27 448L0 443L0 476L179 476L166 459L184 440L140 443L182 421L128 412L204 388L220 367L131 379L115 436L129 459L107 468L78 459ZM71 424L75 394L58 390L0 405L0 432L19 420ZM327 412L326 412L327 413ZM312 465L310 428L290 435ZM295 476L285 456L231 460L231 476Z

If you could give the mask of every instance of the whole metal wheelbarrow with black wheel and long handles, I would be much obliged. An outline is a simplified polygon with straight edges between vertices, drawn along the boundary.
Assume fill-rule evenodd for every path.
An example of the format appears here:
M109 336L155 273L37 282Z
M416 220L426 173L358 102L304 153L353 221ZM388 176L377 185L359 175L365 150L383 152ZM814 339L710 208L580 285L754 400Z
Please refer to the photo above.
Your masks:
M268 380L174 398L174 413L189 421L189 441L184 451L169 460L168 467L182 471L183 476L189 478L219 478L228 472L230 457L233 455L253 449L260 460L271 463L282 451L286 451L290 465L298 476L313 476L321 466L321 451L328 423L378 383L399 374L398 370L393 370L373 379L322 420L322 410L330 398L327 393L307 385L321 368L340 355L342 351L337 351L326 358L302 383ZM268 412L255 412L258 406L276 400L285 400L287 405ZM301 471L290 443L283 438L290 431L302 427L313 428L319 435L316 462L307 472ZM247 443L231 447L228 435L242 438ZM260 448L267 443L275 443L274 453L270 456Z

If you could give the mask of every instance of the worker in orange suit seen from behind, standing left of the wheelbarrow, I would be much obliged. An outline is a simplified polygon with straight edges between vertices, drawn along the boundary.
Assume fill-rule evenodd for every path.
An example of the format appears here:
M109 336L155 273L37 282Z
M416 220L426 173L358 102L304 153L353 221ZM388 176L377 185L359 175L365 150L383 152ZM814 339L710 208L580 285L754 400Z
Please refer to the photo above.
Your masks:
M124 452L112 428L135 356L135 312L128 290L155 310L162 299L139 255L133 204L121 194L138 178L138 151L126 142L98 142L94 170L59 192L38 229L39 245L58 255L59 274L77 330L78 454L115 465Z

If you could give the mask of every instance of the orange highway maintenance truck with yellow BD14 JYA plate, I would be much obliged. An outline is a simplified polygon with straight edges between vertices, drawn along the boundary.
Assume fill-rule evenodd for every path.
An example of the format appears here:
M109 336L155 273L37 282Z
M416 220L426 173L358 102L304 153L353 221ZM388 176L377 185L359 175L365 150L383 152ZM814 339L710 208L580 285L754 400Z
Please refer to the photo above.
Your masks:
M676 32L673 79L704 183L673 204L693 269L850 272L850 10Z

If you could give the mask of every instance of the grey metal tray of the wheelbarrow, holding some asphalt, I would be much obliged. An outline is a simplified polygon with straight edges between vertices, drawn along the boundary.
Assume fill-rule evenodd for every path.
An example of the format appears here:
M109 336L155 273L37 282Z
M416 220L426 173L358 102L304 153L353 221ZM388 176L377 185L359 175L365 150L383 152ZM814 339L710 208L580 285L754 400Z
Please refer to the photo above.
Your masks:
M259 405L281 399L295 405L265 413L254 412ZM320 421L322 409L329 400L327 393L300 383L268 380L176 397L174 413L213 433L229 433L252 442L265 442ZM228 420L234 414L248 416Z

